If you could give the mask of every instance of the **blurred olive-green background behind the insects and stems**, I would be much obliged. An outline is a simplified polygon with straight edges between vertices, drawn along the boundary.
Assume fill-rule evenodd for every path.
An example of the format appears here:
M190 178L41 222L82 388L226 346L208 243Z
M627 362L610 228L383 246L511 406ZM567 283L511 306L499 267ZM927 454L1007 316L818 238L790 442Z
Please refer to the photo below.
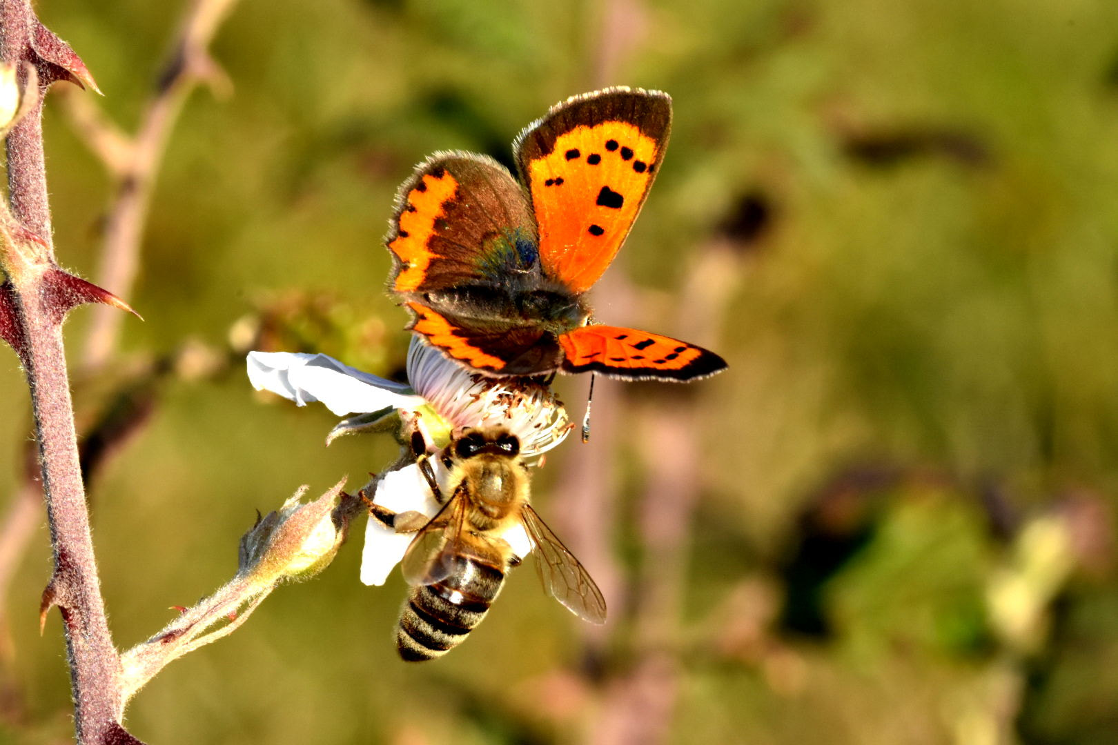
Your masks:
M187 7L38 11L133 131ZM255 394L236 356L399 374L380 238L435 150L508 163L569 95L671 93L667 159L595 307L730 370L599 381L590 443L536 478L604 630L525 570L461 649L409 667L405 585L360 585L358 525L141 691L134 734L1118 743L1118 4L244 1L211 51L231 87L188 99L135 287L110 287L145 322L84 375L93 312L67 326L86 431L111 443L91 500L120 647L231 575L254 510L394 457L383 437L326 449L334 418ZM94 278L113 181L57 92L45 126L59 260ZM557 386L579 417L586 381ZM8 352L0 390L10 510L31 426ZM72 736L57 614L37 628L42 523L3 560L0 742Z

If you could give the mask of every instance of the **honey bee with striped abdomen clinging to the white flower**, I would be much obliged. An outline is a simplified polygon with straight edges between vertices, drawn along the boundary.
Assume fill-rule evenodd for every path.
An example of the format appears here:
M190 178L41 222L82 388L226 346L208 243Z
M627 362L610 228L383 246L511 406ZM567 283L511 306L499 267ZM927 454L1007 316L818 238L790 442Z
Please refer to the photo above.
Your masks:
M413 449L424 452L421 437L413 441ZM402 659L442 657L482 622L505 574L520 563L502 537L517 526L531 541L544 591L575 615L605 623L601 591L529 504L528 467L515 434L501 427L468 429L433 457L440 458L452 485L449 496L444 496L427 457L419 456L442 505L435 517L373 510L398 533L416 531L401 563L404 579L411 585L396 627ZM421 520L426 522L418 524Z

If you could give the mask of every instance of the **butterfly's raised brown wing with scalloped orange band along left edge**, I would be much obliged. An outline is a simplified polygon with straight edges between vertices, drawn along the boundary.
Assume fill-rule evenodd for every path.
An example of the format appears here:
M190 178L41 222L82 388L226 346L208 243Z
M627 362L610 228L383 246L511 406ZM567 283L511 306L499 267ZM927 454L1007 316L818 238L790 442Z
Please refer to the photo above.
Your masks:
M436 153L396 199L385 239L394 257L390 292L415 299L472 284L499 285L511 268L538 259L524 190L496 161Z

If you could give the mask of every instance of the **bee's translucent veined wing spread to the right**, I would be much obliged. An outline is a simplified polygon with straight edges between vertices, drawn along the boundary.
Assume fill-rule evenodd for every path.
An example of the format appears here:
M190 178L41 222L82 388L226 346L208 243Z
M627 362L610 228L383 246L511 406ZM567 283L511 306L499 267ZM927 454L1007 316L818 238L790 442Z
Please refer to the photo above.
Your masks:
M590 623L606 622L606 599L575 555L562 545L530 505L521 517L536 548L536 571L549 595Z

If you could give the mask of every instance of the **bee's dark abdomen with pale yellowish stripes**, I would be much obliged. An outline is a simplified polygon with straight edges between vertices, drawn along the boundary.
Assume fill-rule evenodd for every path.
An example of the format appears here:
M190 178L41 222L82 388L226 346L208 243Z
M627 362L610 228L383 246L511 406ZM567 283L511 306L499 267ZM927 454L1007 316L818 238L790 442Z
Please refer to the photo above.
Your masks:
M455 556L453 562L446 579L411 588L400 611L396 649L409 662L442 657L462 643L501 592L504 570L491 560Z

